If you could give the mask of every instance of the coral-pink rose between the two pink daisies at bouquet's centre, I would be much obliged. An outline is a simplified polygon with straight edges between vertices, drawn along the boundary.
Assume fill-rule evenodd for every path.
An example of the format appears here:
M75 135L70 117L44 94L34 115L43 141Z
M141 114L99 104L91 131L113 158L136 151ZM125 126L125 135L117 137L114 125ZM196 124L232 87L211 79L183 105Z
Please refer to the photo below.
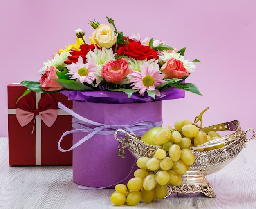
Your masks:
M129 68L128 61L121 58L118 60L110 60L104 64L101 69L101 76L105 78L107 82L119 84L132 72L132 69Z

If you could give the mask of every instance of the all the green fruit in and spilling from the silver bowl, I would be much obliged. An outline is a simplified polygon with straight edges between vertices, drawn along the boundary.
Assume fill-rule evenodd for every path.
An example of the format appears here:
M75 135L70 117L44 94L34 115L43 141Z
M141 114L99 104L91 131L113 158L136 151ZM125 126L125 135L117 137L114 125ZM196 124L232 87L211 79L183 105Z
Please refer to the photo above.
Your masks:
M202 124L201 124L202 125ZM220 138L215 131L205 133L196 122L177 120L171 126L155 127L145 133L146 140L159 149L152 158L141 157L136 164L139 167L134 172L127 187L117 184L110 200L115 205L137 205L141 200L145 203L156 198L166 197L167 185L182 185L181 175L185 174L195 162L195 156L189 149L207 141ZM148 138L149 137L149 138ZM221 145L218 145L221 146ZM197 151L211 150L219 147L209 147Z

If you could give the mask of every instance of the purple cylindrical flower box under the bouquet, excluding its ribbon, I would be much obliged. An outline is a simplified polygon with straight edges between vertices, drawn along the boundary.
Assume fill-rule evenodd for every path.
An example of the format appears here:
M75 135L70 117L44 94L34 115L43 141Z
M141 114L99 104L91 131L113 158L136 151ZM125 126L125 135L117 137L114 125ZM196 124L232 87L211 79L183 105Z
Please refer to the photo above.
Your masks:
M106 104L73 100L73 111L102 124L130 125L141 121L160 122L162 101ZM73 144L87 133L73 133ZM117 156L114 135L94 135L73 149L73 182L88 187L127 184L138 169L135 158L126 148L126 158Z

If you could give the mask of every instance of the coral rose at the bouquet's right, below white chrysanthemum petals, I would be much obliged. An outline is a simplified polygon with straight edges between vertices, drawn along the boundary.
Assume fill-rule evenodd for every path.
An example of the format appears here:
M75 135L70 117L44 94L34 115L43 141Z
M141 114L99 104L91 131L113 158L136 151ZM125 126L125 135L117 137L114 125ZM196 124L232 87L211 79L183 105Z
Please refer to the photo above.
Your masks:
M176 60L175 58L170 58L160 69L165 75L164 78L182 78L184 76L189 76L189 71L183 65L183 62Z

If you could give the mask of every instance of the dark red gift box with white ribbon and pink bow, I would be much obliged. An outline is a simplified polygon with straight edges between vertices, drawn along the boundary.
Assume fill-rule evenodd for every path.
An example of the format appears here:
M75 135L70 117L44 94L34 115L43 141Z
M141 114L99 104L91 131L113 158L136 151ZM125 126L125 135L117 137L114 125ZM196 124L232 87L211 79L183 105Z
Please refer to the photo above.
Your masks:
M7 90L9 165L72 165L72 151L58 150L62 134L72 130L72 116L57 107L61 102L72 109L72 100L61 93L31 92L16 104L26 87L9 84ZM67 137L61 146L69 148L72 134Z

